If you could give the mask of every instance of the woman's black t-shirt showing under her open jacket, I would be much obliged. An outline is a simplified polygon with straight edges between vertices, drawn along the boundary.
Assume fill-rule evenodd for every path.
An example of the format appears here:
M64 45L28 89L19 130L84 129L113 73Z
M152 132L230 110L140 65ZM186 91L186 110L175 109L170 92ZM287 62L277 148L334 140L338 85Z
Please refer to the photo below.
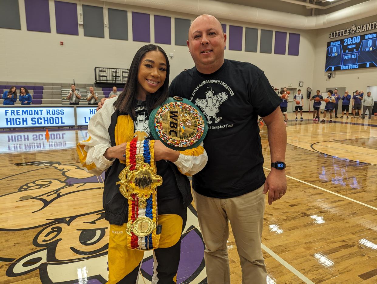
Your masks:
M143 131L147 133L148 138L150 139L150 130L149 130L149 112L145 101L141 102L140 105L135 106L135 118L133 119L134 132ZM181 195L181 192L178 189L175 175L167 163L166 160L161 160L156 162L157 174L162 177L162 185L157 189L157 200L169 200L177 198Z

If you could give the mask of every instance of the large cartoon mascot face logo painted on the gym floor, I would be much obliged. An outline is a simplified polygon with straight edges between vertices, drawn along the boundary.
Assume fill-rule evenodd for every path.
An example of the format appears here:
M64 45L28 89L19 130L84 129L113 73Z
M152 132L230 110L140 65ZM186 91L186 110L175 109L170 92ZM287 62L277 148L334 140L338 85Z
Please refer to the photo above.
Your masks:
M72 164L37 161L16 164L33 175L55 171L60 178L27 181L0 195L0 282L106 283L108 279L109 223L102 209L103 176L97 177ZM40 167L40 168L39 168ZM37 168L37 169L36 169ZM56 177L57 175L54 175ZM1 179L14 184L11 175ZM182 236L177 283L207 283L204 243L195 209L187 210ZM141 274L150 283L153 255L144 255ZM38 279L39 278L39 279ZM141 278L141 277L140 277Z

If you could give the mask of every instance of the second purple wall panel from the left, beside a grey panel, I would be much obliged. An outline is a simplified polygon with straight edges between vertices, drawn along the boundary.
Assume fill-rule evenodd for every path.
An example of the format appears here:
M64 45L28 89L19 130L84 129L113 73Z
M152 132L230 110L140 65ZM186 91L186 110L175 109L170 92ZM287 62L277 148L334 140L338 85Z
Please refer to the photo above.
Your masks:
M55 1L57 34L78 35L77 4Z

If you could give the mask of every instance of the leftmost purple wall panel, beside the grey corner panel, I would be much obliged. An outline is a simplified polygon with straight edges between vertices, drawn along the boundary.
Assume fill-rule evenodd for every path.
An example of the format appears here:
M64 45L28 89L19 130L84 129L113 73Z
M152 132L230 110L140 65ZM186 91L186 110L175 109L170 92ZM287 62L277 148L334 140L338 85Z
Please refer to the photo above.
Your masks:
M48 0L25 0L28 31L51 32Z

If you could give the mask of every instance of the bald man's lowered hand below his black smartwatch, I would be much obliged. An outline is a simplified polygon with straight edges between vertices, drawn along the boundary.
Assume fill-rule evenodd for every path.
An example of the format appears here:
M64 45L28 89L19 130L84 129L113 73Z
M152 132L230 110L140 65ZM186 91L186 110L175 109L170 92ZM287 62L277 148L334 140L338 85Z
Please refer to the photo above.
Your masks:
M263 194L268 192L268 204L271 205L287 192L287 178L285 170L271 169L264 183Z

